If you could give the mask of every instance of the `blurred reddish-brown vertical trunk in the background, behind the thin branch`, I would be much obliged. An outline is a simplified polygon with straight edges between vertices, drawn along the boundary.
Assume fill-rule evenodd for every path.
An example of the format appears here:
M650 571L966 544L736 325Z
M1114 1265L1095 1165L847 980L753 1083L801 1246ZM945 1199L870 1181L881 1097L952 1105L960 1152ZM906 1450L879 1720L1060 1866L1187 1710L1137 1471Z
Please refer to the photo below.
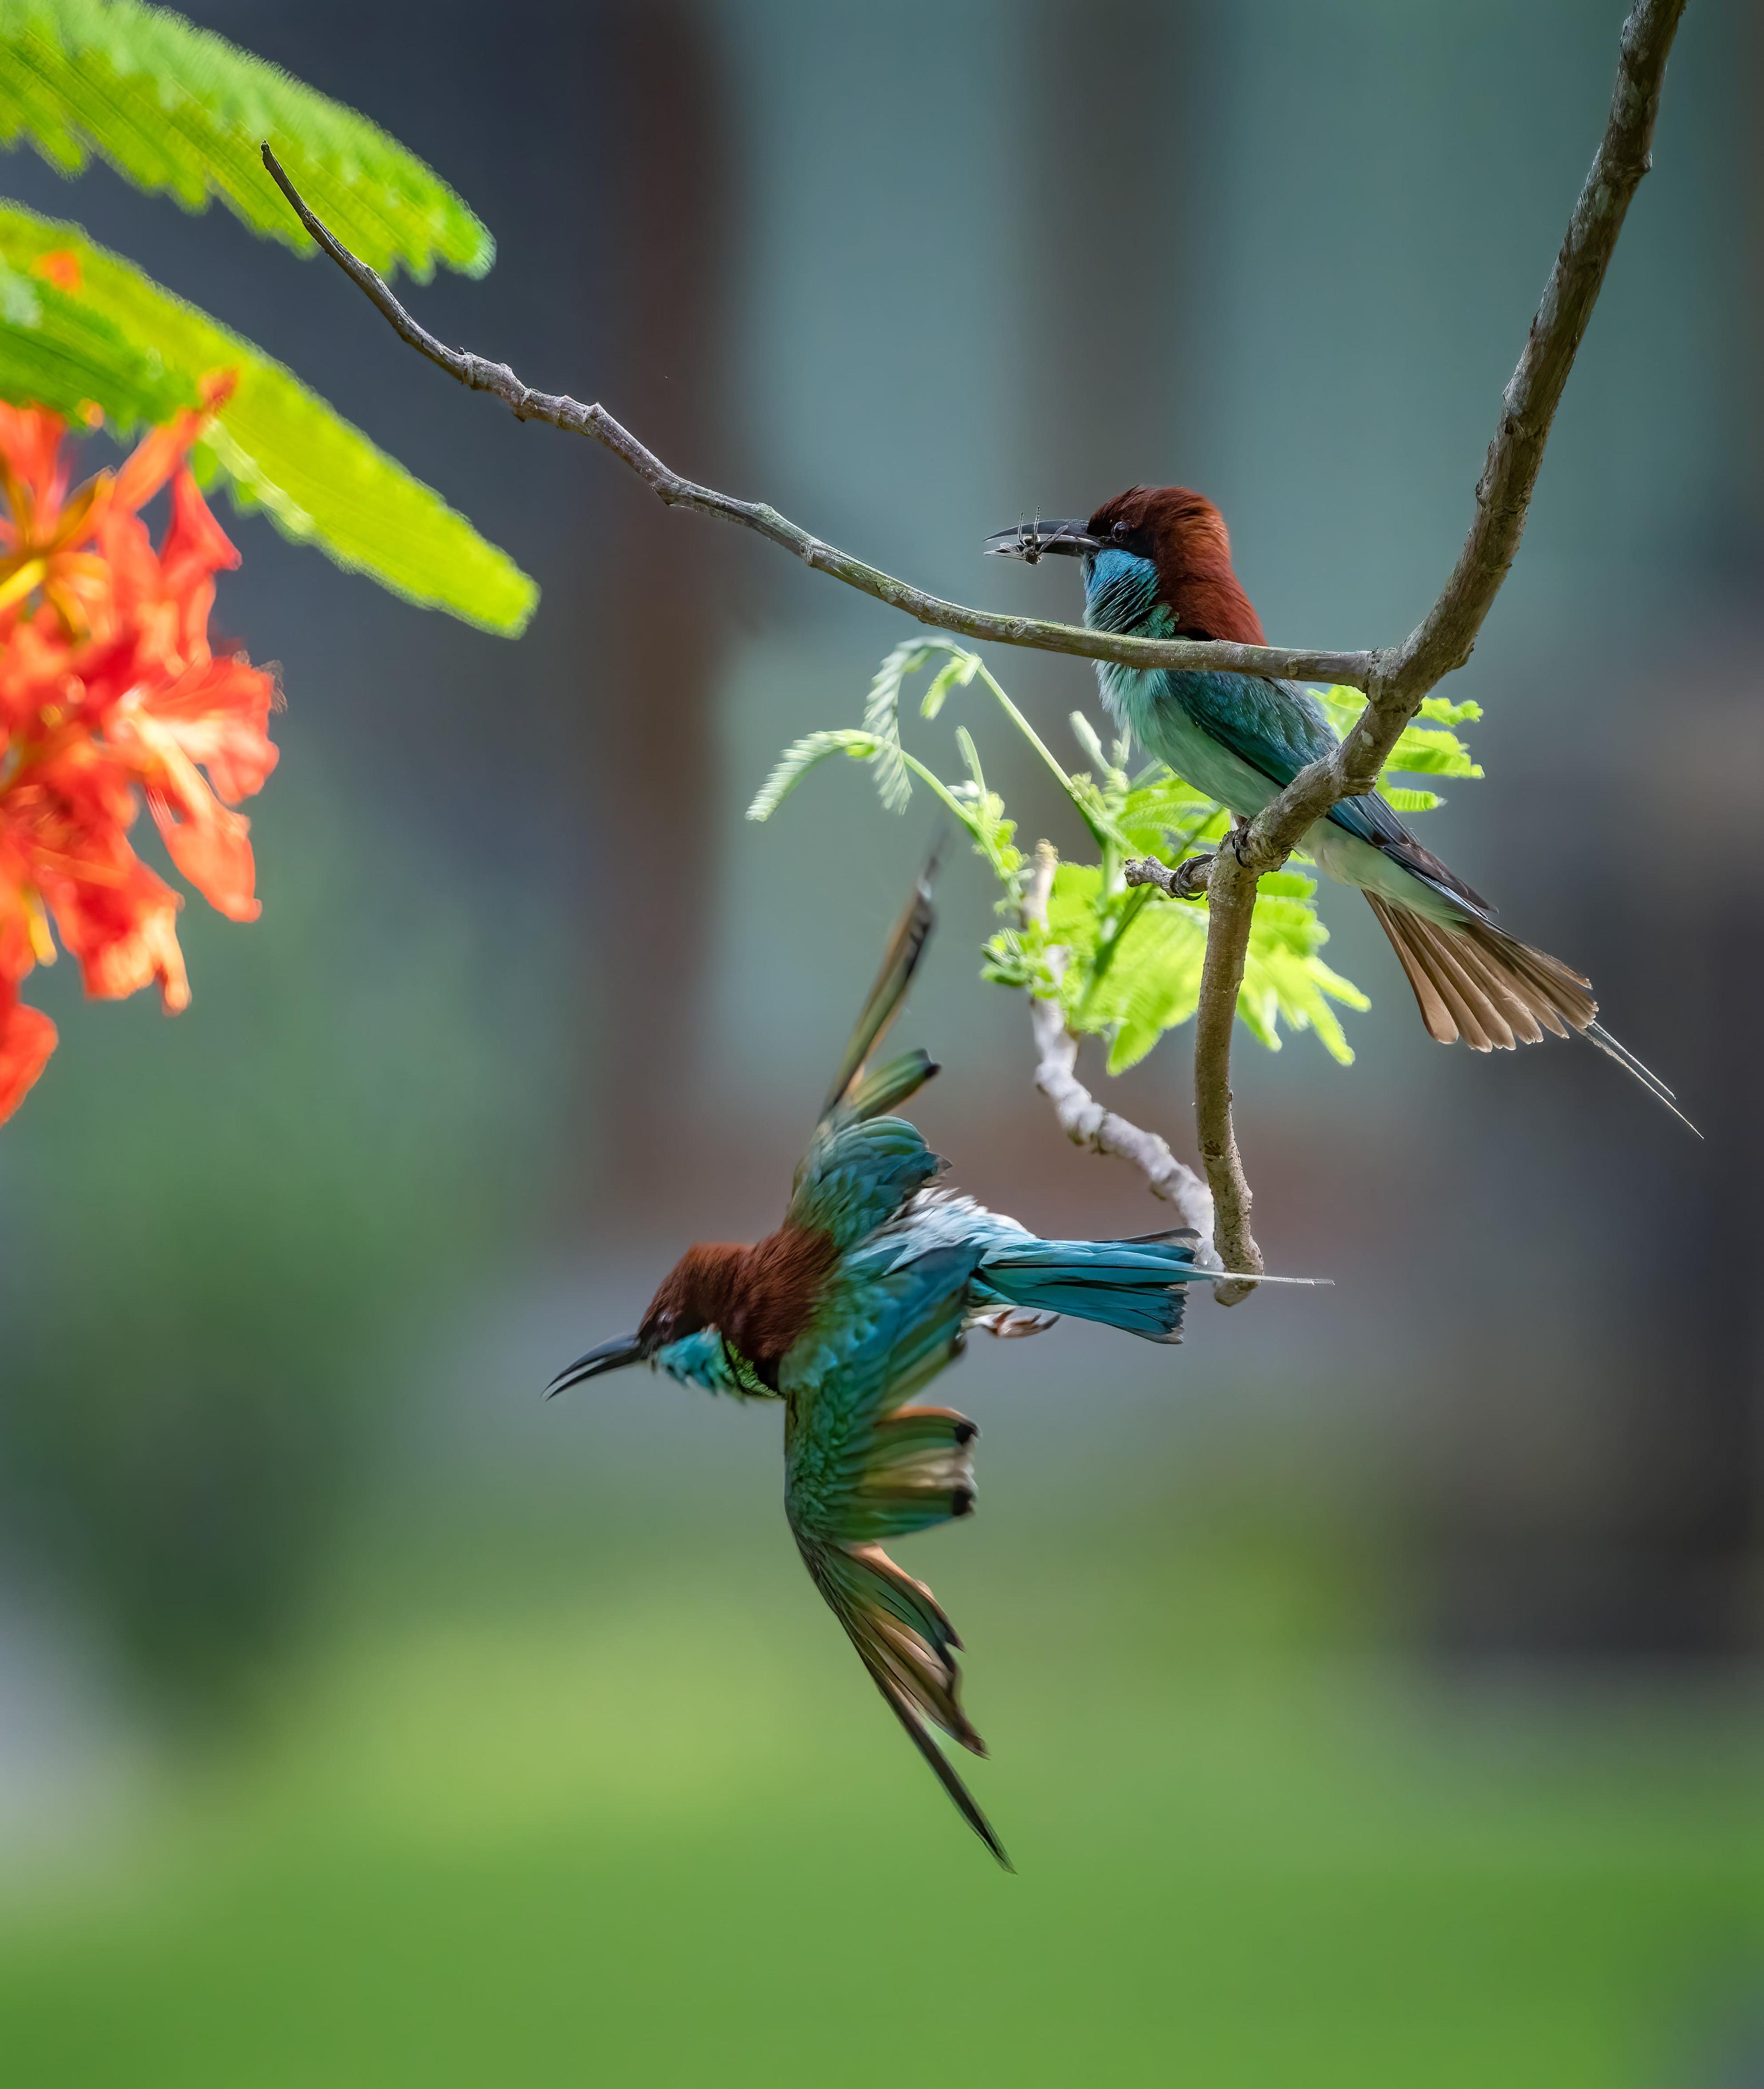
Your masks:
M616 366L578 372L678 470L741 478L726 435L735 232L729 90L689 0L607 0L589 52L612 219L601 297L620 313ZM591 198L582 198L591 207ZM593 460L585 460L593 468ZM716 831L712 696L724 545L620 483L601 503L595 629L576 679L576 773L587 823L585 942L591 1088L585 1143L624 1216L653 1210L689 1136L691 1030L706 978L706 838ZM691 846L678 846L681 838ZM582 1178L585 1184L591 1178ZM605 1218L578 1212L578 1218Z

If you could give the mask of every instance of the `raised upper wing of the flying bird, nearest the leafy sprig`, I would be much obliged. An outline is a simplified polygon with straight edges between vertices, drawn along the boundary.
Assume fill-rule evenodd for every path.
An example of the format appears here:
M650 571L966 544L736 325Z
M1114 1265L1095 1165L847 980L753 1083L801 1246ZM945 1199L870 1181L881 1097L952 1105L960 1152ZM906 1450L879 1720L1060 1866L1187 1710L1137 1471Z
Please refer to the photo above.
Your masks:
M916 1126L891 1118L937 1072L923 1051L902 1053L873 1074L864 1063L900 1011L931 936L929 863L912 886L906 913L889 936L877 982L833 1076L820 1122L791 1184L787 1226L823 1233L841 1249L887 1224L906 1199L944 1166Z

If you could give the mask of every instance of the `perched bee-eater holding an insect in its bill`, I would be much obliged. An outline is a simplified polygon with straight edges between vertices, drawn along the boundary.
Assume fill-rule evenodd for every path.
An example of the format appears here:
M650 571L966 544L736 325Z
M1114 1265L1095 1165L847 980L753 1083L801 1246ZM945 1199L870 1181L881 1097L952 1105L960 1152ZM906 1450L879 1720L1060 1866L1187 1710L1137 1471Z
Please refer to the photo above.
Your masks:
M1092 631L1267 643L1232 570L1225 518L1188 487L1129 487L1090 520L1025 522L987 537L985 547L1031 564L1050 551L1081 560ZM1111 717L1146 752L1240 821L1336 750L1324 706L1296 681L1115 660L1098 660L1096 679ZM1578 1030L1672 1109L1672 1090L1595 1022L1591 982L1495 928L1495 909L1426 850L1378 792L1344 798L1301 846L1330 877L1365 892L1430 1038L1511 1051L1536 1044L1545 1030Z

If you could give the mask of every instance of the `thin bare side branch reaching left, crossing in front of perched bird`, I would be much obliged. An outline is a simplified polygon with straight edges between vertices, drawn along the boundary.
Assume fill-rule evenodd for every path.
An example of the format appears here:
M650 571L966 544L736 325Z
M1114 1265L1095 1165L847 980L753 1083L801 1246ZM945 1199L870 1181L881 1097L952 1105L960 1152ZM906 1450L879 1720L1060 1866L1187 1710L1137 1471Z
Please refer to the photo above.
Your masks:
M1315 652L1282 646L1230 646L1221 639L1129 639L1113 631L1083 631L1077 625L1044 623L1038 616L1000 616L994 610L969 610L960 602L944 602L941 595L927 595L906 581L896 581L879 566L866 566L850 551L839 551L823 543L806 529L800 529L777 508L764 501L739 501L714 487L699 487L691 478L681 478L662 460L643 447L637 437L622 428L601 405L582 405L562 393L539 393L509 370L507 363L493 363L470 349L449 349L436 341L428 328L420 326L380 276L357 261L355 255L321 224L305 205L301 192L288 180L282 163L263 146L263 165L271 180L292 205L301 224L317 244L336 261L344 276L374 303L390 322L397 336L426 355L470 391L484 391L501 399L516 420L543 420L566 435L585 435L593 443L605 445L620 464L626 464L649 491L668 508L693 508L697 514L718 516L741 529L756 531L768 543L793 551L816 572L829 572L835 581L856 587L864 595L875 595L893 610L904 610L921 625L939 631L960 631L971 639L996 639L1000 646L1029 646L1038 652L1077 654L1083 660L1123 660L1127 666L1184 666L1200 673L1225 675L1292 675L1303 681L1342 681L1353 689L1369 689L1378 671L1378 654L1369 652Z

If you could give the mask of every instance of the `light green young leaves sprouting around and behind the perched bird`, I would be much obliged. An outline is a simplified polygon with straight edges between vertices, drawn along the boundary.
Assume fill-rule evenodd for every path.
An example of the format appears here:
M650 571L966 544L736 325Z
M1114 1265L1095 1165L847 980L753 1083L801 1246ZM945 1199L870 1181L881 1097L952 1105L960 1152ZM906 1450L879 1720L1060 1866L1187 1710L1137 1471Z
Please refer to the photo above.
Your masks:
M956 750L967 771L950 783L910 754L900 735L900 698L908 677L946 656L921 702L921 717L935 719L952 689L985 683L1010 723L1040 754L1098 850L1096 863L1060 863L1048 896L1046 928L1023 917L1027 861L1015 842L1004 800L987 788L979 752L962 727ZM1328 689L1321 698L1338 733L1346 733L1365 698L1357 689ZM1407 727L1380 777L1380 790L1405 811L1426 811L1440 800L1428 790L1392 785L1390 775L1480 777L1455 727L1478 719L1476 704L1428 698ZM1207 957L1207 900L1169 900L1154 886L1127 886L1123 869L1134 856L1177 865L1207 854L1223 840L1230 817L1163 762L1127 769L1129 744L1104 748L1092 723L1073 712L1073 737L1088 769L1067 773L1023 712L987 671L979 654L952 639L908 639L883 660L864 702L862 729L808 733L779 758L760 788L749 819L770 819L795 785L833 754L866 760L877 794L889 811L904 811L919 777L962 823L1000 888L1006 917L985 946L981 976L998 986L1027 988L1056 999L1071 1030L1109 1038L1109 1072L1136 1065L1165 1030L1186 1024L1200 1001ZM1346 1065L1353 1049L1336 1007L1365 1009L1365 994L1321 959L1330 932L1317 915L1317 882L1303 869L1261 879L1250 923L1250 948L1238 1013L1250 1032L1280 1051L1282 1024L1315 1032L1332 1059ZM1065 953L1052 963L1050 953Z

